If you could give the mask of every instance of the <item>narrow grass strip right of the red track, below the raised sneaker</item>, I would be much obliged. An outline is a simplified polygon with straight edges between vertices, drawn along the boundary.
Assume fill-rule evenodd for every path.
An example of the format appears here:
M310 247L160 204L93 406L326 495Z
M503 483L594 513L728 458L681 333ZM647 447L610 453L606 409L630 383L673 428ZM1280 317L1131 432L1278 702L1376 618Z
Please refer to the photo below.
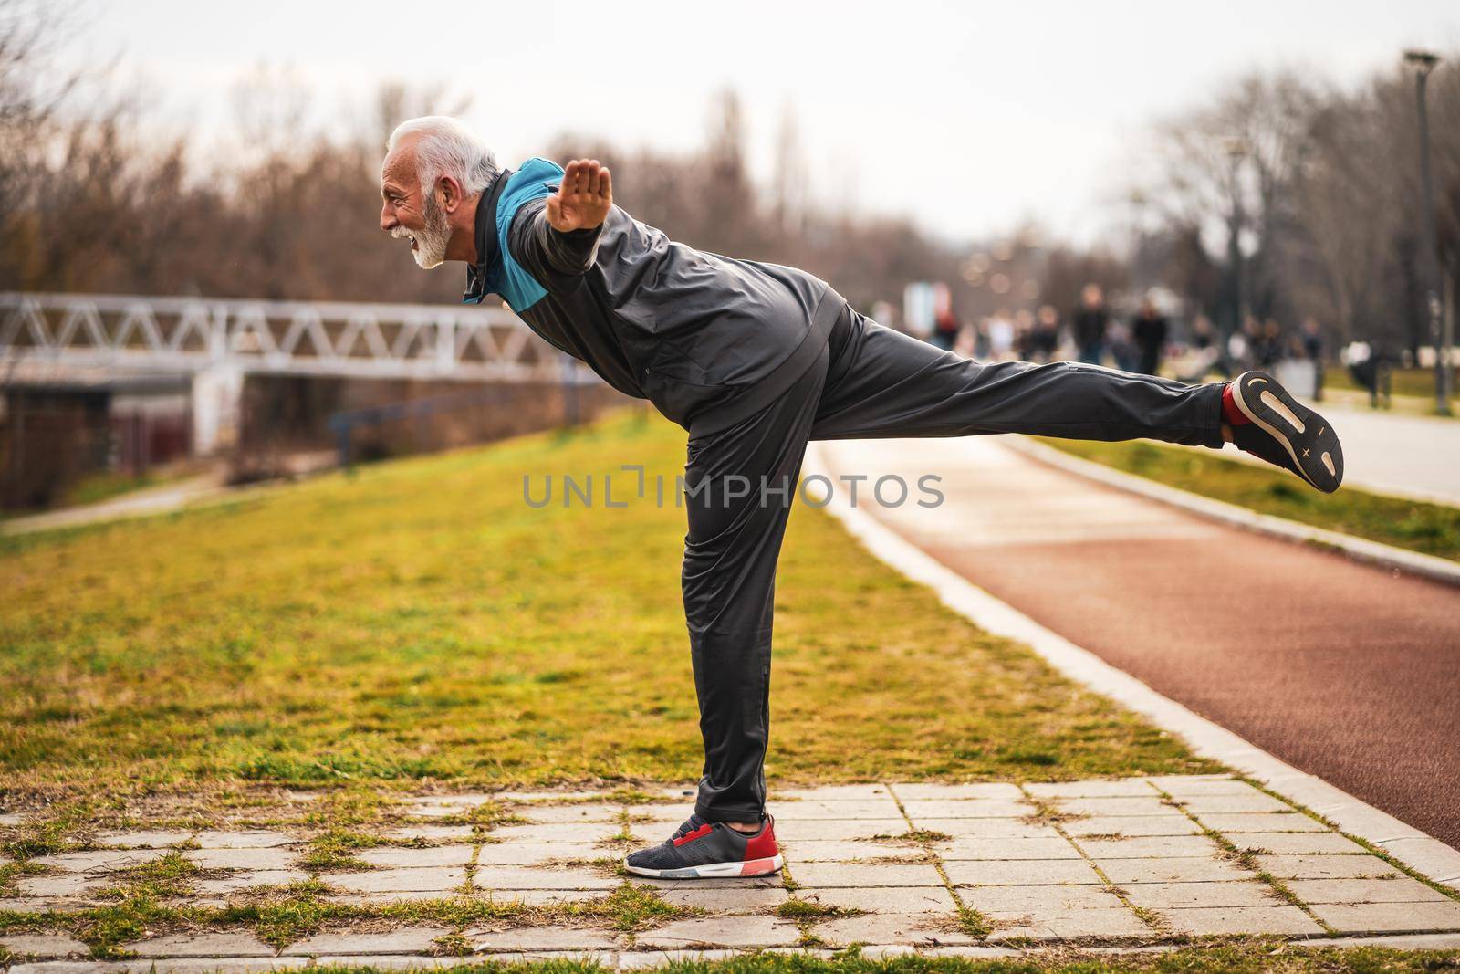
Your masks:
M1460 508L1339 488L1318 494L1298 478L1226 460L1212 451L1137 440L1095 442L1042 440L1085 460L1149 478L1228 504L1313 524L1332 532L1407 548L1425 555L1460 559Z

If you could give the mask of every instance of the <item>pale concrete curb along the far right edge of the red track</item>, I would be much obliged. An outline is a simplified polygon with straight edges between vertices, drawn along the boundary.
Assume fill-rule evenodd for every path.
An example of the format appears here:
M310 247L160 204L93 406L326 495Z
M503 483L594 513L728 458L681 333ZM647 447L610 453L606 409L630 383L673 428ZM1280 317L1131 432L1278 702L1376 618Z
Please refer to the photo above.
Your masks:
M1403 571L1410 575L1419 575L1421 578L1429 578L1431 581L1441 581L1448 586L1460 586L1460 564L1445 558L1421 555L1419 552L1405 551L1403 548L1394 548L1393 545L1383 545L1364 537L1353 537L1352 534L1342 534L1321 527L1299 524L1298 521L1273 517L1272 514L1259 514L1247 510L1245 507L1226 504L1225 501L1213 501L1209 496L1156 483L1155 480L1148 480L1146 478L1140 478L1133 473L1107 467L1102 463L1082 460L1080 457L1061 453L1054 447L1047 447L1042 442L1035 442L1026 437L1009 437L1004 445L1015 453L1029 457L1031 460L1038 460L1040 463L1064 470L1066 473L1073 473L1088 480L1096 480L1107 486L1120 488L1121 491L1127 491L1130 494L1139 494L1140 496L1158 501L1168 507L1180 508L1190 514L1197 514L1199 517L1204 517L1212 521L1221 521L1222 524L1241 527L1242 530L1267 534L1269 537L1280 537L1288 542L1329 548L1342 552L1353 561L1365 562L1368 565Z

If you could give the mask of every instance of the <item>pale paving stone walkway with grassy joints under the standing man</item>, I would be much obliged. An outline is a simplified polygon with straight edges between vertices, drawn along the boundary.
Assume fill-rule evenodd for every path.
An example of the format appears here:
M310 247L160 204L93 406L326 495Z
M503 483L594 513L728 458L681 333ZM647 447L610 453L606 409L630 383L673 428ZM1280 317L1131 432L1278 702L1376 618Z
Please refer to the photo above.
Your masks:
M279 831L126 831L92 848L29 860L0 911L73 911L117 870L171 850L206 869L187 902L226 905L311 876L350 904L491 898L591 901L626 879L612 862L663 841L686 793L618 805L594 793L407 799L384 837L419 845L361 850L371 869L302 862L305 837ZM460 821L508 799L518 821L482 831ZM57 933L0 935L12 974L273 970L312 964L450 965L485 956L591 955L645 967L694 952L886 951L993 956L1077 942L1149 945L1184 936L1460 935L1460 900L1403 875L1320 821L1226 777L1061 784L857 784L785 791L771 805L787 869L753 881L634 881L698 908L635 933L502 920L469 929L365 924L267 945L247 929L161 933L124 943L136 959L92 961ZM3 864L3 862L0 862ZM810 904L788 907L787 904ZM823 910L835 908L835 910ZM450 945L450 951L447 949ZM708 951L708 954L705 954ZM442 954L466 956L441 956Z

